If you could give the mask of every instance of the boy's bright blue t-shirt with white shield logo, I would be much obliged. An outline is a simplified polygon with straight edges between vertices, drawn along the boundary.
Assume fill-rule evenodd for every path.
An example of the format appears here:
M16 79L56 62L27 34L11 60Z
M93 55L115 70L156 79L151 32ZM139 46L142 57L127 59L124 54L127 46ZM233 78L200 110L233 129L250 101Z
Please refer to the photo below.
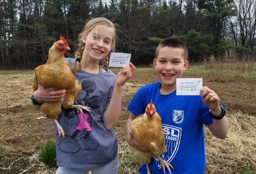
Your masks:
M174 169L172 174L204 173L205 147L203 125L209 126L213 119L199 95L176 95L176 91L163 95L159 93L160 82L142 86L127 108L135 116L145 112L150 100L162 118L167 152L161 157ZM152 173L164 173L161 163L152 159L149 164ZM147 173L143 164L139 173ZM166 169L165 173L169 173Z

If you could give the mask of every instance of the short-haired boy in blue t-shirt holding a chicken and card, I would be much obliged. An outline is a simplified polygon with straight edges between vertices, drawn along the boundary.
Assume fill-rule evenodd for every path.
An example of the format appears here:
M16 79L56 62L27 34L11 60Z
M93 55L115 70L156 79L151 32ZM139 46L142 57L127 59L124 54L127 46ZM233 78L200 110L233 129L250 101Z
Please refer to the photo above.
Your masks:
M136 149L147 151L131 134L132 121L145 112L150 100L162 118L167 152L161 157L169 162L176 173L204 173L205 149L203 125L212 134L225 138L228 133L226 110L219 105L218 95L203 86L199 95L176 95L176 79L188 67L188 52L185 43L179 39L164 39L156 48L154 67L159 82L142 86L127 107L131 115L127 120L127 141ZM210 111L209 111L210 109ZM163 173L159 161L152 159L149 168L152 173ZM139 173L147 173L145 164ZM166 173L169 173L166 170Z

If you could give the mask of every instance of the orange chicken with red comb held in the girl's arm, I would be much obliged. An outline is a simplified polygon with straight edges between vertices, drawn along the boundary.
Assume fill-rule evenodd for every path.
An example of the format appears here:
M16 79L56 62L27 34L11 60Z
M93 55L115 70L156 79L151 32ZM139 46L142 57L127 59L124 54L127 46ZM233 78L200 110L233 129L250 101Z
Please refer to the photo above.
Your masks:
M38 66L34 71L33 91L38 89L38 85L43 88L66 89L65 97L58 102L43 102L40 110L46 115L46 118L53 119L58 127L59 135L65 136L65 132L57 121L63 108L77 108L74 105L75 98L82 90L78 80L73 77L72 70L68 62L65 62L64 55L70 50L64 37L55 42L49 49L49 55L46 64ZM84 109L84 108L83 108Z

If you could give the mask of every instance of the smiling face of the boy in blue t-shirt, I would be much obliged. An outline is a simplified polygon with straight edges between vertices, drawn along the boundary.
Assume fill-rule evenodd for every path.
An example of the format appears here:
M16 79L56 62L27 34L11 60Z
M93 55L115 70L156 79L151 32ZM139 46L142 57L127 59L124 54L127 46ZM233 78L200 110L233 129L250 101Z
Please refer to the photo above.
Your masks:
M188 60L184 60L181 48L162 47L158 50L158 57L154 59L156 75L165 89L175 89L176 79L180 78L183 70L188 68Z

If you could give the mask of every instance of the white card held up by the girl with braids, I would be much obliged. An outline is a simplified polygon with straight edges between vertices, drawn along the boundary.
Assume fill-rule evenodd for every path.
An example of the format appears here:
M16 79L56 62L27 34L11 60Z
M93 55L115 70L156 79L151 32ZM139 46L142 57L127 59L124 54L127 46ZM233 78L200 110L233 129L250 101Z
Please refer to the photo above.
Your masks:
M109 67L124 67L129 65L131 54L127 53L111 53L109 59Z

